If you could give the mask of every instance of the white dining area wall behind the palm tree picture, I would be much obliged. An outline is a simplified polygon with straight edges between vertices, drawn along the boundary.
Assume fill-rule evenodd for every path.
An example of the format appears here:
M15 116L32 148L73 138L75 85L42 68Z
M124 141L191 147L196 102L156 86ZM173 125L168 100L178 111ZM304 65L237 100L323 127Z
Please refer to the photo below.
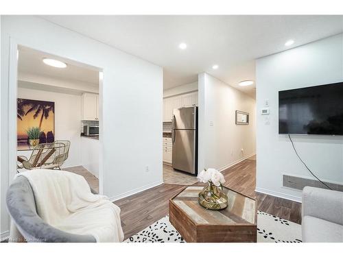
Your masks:
M25 82L21 85L25 86ZM69 158L63 167L81 165L81 96L19 87L18 98L55 102L55 140L71 141Z

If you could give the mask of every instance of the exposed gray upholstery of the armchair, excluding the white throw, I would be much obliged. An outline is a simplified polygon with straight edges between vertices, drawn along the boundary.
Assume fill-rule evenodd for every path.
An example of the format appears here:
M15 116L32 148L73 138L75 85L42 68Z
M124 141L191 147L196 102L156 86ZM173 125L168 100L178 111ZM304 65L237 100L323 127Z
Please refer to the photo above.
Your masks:
M36 211L32 187L27 178L23 176L16 178L8 188L6 204L12 218L10 242L95 243L95 238L91 235L70 234L58 230L40 219ZM19 234L23 237L19 238Z

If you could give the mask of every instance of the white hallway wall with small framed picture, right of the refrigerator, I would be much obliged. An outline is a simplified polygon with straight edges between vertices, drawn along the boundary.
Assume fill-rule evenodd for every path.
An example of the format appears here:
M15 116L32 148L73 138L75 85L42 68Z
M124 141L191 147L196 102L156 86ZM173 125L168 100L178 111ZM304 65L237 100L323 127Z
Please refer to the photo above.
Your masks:
M199 106L200 170L204 167L223 170L255 154L255 99L202 73ZM249 125L235 124L236 110L249 112Z

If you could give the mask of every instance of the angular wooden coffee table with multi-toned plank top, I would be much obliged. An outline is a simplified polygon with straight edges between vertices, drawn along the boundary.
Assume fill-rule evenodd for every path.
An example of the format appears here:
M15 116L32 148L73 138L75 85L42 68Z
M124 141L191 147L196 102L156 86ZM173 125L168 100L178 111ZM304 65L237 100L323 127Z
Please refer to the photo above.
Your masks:
M203 186L188 186L169 200L169 221L186 242L256 242L255 199L224 188L228 207L206 210L198 203Z

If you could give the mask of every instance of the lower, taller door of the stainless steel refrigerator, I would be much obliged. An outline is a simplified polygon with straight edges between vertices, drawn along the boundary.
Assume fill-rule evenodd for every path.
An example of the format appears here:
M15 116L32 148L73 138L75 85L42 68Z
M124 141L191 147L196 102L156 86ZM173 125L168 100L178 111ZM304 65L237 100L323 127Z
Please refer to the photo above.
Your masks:
M174 130L172 167L196 174L196 130Z

